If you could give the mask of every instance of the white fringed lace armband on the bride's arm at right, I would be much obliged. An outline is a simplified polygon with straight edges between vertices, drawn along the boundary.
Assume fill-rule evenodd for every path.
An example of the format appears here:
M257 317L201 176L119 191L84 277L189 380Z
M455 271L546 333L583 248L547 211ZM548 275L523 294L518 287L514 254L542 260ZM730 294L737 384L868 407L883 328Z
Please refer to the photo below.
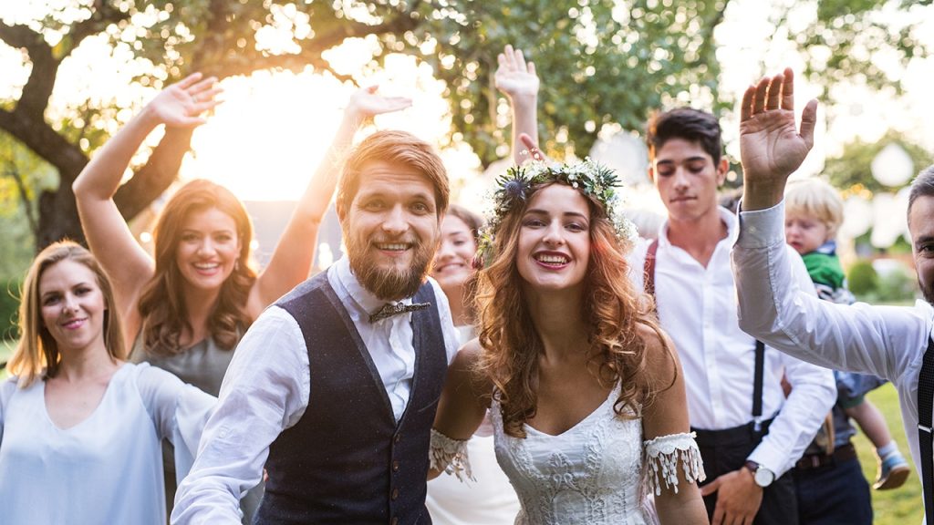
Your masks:
M643 442L644 483L648 491L658 496L664 482L665 489L678 493L679 461L688 483L697 483L707 478L703 472L701 450L694 437L695 433L672 433Z

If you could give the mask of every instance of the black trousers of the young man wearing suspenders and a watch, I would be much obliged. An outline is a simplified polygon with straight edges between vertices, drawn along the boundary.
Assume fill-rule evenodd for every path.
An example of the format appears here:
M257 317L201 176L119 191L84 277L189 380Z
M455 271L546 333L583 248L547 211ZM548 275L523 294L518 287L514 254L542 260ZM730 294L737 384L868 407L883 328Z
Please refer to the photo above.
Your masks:
M746 458L762 441L762 436L768 433L769 423L771 420L764 421L758 432L752 423L721 431L692 429L698 434L698 447L707 473L707 479L701 486L719 475L743 468ZM716 496L714 492L703 499L707 517L711 519L714 518ZM798 525L798 498L790 474L775 479L762 491L762 504L753 525Z

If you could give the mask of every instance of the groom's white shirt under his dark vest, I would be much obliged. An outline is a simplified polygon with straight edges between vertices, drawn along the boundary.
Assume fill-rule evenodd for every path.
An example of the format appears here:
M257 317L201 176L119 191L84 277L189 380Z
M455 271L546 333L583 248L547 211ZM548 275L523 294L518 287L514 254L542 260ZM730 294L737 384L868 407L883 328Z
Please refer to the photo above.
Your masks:
M353 319L398 421L415 374L412 314L371 324L370 314L386 302L363 289L346 257L328 269L328 282ZM431 278L429 282L441 318L447 362L451 362L458 346L450 308L438 283ZM411 304L412 299L402 303ZM172 523L240 523L240 498L259 483L269 446L302 418L309 403L315 402L308 398L310 383L302 329L284 309L270 306L237 345L191 475L178 486Z

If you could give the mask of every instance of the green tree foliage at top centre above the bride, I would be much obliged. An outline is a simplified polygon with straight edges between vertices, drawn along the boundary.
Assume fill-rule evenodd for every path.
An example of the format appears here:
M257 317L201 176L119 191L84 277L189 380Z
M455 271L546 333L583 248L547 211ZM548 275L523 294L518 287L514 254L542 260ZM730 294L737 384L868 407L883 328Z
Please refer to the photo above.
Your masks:
M719 111L713 32L726 1L450 0L426 13L424 59L447 82L456 135L484 165L508 152L508 105L493 86L496 55L525 50L543 78L539 120L550 156L579 155L604 124L642 130L661 106ZM440 15L440 16L439 16Z

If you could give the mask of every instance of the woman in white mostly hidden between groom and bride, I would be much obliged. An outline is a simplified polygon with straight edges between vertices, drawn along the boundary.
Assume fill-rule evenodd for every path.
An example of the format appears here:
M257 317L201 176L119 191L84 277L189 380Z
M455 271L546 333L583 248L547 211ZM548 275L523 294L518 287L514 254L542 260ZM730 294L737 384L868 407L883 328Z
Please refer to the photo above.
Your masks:
M476 337L474 328L474 256L483 218L463 206L447 206L441 223L441 245L434 254L432 277L445 292L458 344ZM436 525L512 524L519 509L516 490L496 464L492 425L484 419L467 443L476 477L461 483L454 475L439 475L428 483L425 506Z

